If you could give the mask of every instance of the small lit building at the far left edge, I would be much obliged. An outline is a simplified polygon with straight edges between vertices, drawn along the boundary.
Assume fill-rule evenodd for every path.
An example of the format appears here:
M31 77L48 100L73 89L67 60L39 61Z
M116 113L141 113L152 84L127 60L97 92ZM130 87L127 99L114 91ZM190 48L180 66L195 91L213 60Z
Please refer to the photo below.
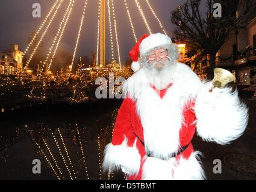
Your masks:
M0 74L17 74L23 69L23 52L17 44L10 45L10 50L0 53Z

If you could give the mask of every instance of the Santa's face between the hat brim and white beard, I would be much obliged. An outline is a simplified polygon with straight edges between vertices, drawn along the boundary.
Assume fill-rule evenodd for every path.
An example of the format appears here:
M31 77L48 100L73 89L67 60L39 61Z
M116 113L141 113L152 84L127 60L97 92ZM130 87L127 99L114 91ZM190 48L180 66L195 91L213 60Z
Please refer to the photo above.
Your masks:
M153 50L147 56L149 68L156 68L158 71L160 71L161 69L163 69L164 64L169 61L167 56L168 52L166 49L159 48Z

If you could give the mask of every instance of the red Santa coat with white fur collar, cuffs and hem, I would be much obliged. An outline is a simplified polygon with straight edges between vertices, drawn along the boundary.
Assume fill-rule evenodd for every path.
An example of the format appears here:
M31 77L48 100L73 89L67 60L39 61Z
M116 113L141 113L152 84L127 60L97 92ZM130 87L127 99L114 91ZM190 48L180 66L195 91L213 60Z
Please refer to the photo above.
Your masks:
M205 89L200 91L204 86L187 65L177 63L172 71L171 86L162 91L157 91L148 83L143 68L126 80L124 88L129 97L123 100L114 125L112 141L105 148L105 170L123 167L128 172L127 179L204 179L204 171L198 160L199 152L194 152L190 143L196 125L197 129L201 129L198 133L203 139L220 144L233 140L243 132L246 124L239 125L239 121L241 118L246 120L246 116L238 116L246 112L246 109L236 114L239 120L224 135L221 130L223 127L220 130L216 127L214 130L212 127L210 130L202 127L201 124L214 126L214 121L207 117L219 113L211 114L212 106L205 109L205 105L201 104L204 103L205 93L208 94L211 85L205 85ZM216 93L209 95L210 99L215 96L223 99ZM231 109L234 108L237 95L234 97L227 93L222 96L226 96L225 102L234 98L233 103L229 102L226 106L229 108L227 110L237 110ZM237 104L236 107L239 107L239 103ZM205 110L204 113L210 114L204 116L197 112L202 109ZM204 119L210 121L211 125ZM187 146L185 151L170 158L183 146Z

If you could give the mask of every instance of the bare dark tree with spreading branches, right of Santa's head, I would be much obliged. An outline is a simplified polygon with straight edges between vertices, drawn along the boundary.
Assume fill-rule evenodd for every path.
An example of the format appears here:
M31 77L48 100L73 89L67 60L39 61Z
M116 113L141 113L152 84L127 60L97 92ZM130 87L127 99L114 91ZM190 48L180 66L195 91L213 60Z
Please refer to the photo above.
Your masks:
M222 16L214 17L215 3L222 5ZM200 57L210 56L210 78L213 78L216 53L237 28L245 26L255 16L255 0L206 0L202 14L201 0L187 0L171 13L175 38L192 45Z

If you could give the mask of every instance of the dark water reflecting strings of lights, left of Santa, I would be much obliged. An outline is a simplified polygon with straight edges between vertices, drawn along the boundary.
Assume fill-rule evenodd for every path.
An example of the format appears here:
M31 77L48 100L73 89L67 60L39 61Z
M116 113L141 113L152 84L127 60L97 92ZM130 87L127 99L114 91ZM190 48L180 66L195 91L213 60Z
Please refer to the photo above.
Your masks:
M83 116L78 123L1 128L0 179L123 179L122 174L102 173L101 167L117 111L116 107L97 119ZM32 172L36 158L42 162L40 176Z

